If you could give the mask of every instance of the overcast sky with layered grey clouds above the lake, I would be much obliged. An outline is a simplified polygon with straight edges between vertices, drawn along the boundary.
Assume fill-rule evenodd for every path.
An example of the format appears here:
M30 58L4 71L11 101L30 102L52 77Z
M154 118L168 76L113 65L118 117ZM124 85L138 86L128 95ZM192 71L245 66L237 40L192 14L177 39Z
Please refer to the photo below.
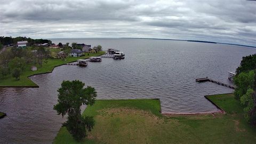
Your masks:
M0 1L0 36L143 37L256 46L256 1Z

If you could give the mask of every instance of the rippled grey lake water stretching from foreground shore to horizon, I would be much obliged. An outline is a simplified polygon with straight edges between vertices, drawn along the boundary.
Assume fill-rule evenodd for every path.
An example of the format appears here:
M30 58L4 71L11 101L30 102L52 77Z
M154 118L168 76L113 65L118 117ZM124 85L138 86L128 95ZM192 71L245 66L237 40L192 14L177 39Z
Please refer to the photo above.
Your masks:
M39 88L0 88L0 141L6 143L52 143L65 121L53 110L57 89L63 80L79 79L95 87L97 99L159 98L163 113L218 111L204 98L207 94L230 93L214 83L196 83L210 77L223 83L245 55L256 49L242 46L166 41L154 39L52 39L102 45L125 52L124 60L102 59L86 68L60 66L52 73L30 77Z

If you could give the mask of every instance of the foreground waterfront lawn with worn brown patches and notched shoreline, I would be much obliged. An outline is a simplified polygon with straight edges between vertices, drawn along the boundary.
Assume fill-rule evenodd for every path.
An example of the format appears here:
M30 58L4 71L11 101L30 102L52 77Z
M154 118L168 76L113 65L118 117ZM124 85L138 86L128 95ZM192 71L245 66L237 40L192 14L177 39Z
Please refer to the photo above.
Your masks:
M159 100L97 100L84 115L95 126L80 143L255 143L255 127L246 123L233 94L209 99L227 114L162 116ZM53 143L78 143L61 127Z

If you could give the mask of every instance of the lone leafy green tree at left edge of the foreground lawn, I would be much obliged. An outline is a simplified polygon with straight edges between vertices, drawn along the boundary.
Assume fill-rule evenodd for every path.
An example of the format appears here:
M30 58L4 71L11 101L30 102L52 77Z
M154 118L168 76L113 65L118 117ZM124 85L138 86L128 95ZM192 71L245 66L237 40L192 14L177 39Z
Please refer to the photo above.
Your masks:
M97 92L91 86L84 88L84 85L78 80L63 81L58 89L58 103L53 108L62 117L68 114L68 120L63 126L78 141L86 137L86 132L91 131L94 126L93 117L81 115L81 106L93 105Z

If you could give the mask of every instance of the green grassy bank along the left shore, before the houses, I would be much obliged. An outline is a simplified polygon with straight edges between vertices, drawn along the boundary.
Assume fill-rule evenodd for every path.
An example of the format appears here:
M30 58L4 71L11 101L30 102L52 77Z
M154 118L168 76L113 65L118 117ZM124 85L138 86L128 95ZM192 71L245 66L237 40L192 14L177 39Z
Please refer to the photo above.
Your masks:
M22 74L20 76L20 80L17 81L14 77L12 76L6 76L4 78L0 78L0 86L37 86L34 82L32 82L28 77L34 74L42 74L42 73L50 73L54 67L63 65L64 63L68 62L73 62L78 59L86 59L89 57L95 57L98 55L102 55L105 52L98 52L98 53L86 53L82 57L68 57L66 59L48 59L47 63L43 62L42 68L38 65L37 66L37 71L31 71L30 67L32 65L28 65L24 71L22 71Z

